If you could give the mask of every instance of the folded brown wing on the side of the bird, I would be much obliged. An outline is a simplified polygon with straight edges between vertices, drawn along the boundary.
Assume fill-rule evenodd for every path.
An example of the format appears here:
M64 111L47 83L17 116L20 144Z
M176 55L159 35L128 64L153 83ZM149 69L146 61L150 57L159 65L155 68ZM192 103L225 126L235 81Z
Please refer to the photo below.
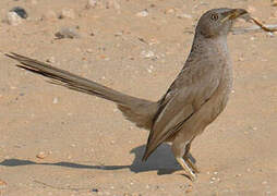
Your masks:
M214 66L182 70L160 101L143 160L180 131L183 123L213 96L219 85L219 75Z

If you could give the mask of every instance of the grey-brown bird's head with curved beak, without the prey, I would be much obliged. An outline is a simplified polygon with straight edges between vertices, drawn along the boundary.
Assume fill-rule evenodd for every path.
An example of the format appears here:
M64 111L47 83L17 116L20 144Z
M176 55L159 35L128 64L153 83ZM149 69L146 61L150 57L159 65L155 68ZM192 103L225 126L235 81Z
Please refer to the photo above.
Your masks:
M243 9L213 9L204 13L196 26L196 34L206 38L227 36L236 19L248 14Z

